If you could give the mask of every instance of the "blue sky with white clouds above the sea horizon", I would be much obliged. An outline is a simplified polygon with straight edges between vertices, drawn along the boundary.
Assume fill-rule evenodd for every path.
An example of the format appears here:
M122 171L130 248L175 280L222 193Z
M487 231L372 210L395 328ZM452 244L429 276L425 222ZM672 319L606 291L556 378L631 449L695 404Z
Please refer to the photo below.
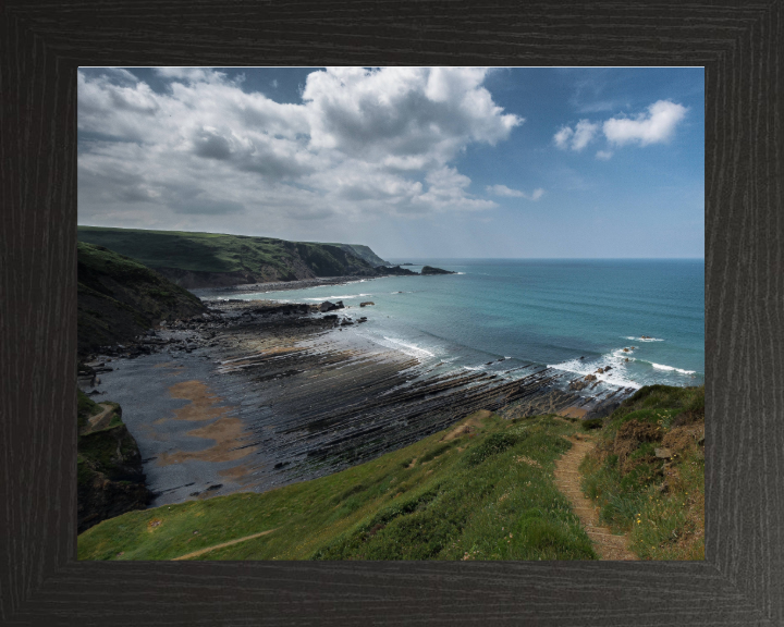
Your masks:
M83 67L78 224L703 258L702 67Z

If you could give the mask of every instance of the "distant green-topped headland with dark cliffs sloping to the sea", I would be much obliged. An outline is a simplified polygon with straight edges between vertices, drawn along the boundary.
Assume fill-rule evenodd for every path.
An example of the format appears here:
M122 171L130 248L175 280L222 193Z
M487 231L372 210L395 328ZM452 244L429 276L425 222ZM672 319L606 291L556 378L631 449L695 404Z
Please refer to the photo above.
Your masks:
M78 238L126 255L186 288L375 276L375 261L383 261L367 246L218 233L79 226Z

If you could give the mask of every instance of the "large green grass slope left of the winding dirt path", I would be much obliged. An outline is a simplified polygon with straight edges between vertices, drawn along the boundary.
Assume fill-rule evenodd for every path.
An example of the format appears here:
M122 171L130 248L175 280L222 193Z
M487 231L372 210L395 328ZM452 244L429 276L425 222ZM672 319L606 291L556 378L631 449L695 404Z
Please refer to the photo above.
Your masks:
M486 414L452 440L436 433L320 479L105 520L79 536L78 556L171 560L274 530L196 558L596 558L552 480L576 427Z

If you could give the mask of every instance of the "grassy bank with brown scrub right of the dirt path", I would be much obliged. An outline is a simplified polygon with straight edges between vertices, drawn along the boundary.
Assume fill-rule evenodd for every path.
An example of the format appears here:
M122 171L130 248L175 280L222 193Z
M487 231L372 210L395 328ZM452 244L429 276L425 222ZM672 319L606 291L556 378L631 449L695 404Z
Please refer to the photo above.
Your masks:
M705 560L700 432L705 386L642 388L609 417L598 432L600 445L580 466L601 520L628 532L629 548L641 558ZM664 447L669 459L656 456Z

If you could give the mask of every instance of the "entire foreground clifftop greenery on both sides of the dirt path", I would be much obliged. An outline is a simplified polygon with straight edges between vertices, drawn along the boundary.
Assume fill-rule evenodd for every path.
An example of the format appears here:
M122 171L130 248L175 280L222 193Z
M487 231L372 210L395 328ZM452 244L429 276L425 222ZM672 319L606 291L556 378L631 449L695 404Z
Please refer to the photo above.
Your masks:
M602 518L632 527L642 558L703 558L705 389L644 388L597 421L512 418L517 404L320 479L106 520L79 536L78 556L595 560L553 478L566 438L590 430L601 443L584 487Z

